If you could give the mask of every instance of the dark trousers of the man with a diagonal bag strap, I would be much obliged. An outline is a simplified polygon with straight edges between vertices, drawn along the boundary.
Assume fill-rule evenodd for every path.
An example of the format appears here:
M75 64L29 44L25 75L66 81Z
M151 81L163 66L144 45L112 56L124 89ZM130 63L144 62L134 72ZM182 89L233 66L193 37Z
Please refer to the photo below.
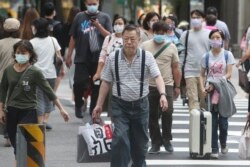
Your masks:
M161 111L159 100L160 94L156 87L149 87L149 133L152 144L162 145L162 141L172 140L172 122L173 122L173 86L166 86L168 109ZM158 123L161 116L162 134Z

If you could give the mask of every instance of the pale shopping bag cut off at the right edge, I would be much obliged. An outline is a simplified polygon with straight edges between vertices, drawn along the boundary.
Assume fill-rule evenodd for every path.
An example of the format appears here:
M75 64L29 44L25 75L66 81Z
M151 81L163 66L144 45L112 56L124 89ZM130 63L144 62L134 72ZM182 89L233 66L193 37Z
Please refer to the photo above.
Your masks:
M239 142L239 157L250 160L250 124L247 121Z

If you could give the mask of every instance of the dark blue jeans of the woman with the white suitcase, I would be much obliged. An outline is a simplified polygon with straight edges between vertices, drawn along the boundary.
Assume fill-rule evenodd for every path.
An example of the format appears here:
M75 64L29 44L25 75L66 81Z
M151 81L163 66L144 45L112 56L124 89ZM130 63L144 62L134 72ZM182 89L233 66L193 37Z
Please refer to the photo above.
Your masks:
M218 110L218 105L212 106L212 152L219 152L218 139L221 147L225 147L227 143L228 118L222 117ZM220 134L218 136L218 127Z

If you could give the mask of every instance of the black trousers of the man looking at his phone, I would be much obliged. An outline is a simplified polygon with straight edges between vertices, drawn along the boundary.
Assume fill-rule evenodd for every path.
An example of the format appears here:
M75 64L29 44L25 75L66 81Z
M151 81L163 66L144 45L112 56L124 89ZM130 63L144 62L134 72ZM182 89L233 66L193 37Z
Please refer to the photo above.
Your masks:
M90 114L96 105L100 85L94 85L92 78L95 75L98 63L77 63L75 64L75 75L73 90L75 94L75 107L82 107L84 92L91 89Z

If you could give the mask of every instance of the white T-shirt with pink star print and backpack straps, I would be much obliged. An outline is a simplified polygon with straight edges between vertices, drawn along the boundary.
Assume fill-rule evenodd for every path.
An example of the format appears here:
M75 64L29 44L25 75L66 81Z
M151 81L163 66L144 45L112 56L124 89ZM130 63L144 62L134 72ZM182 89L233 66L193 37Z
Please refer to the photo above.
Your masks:
M227 72L227 64L235 64L235 59L232 54L232 52L228 52L228 59L226 62L225 58L225 50L222 49L220 54L218 56L214 56L211 51L209 51L209 71L208 71L208 78L213 77L213 78L220 78L226 75ZM206 69L206 55L204 54L202 59L201 59L201 67Z

